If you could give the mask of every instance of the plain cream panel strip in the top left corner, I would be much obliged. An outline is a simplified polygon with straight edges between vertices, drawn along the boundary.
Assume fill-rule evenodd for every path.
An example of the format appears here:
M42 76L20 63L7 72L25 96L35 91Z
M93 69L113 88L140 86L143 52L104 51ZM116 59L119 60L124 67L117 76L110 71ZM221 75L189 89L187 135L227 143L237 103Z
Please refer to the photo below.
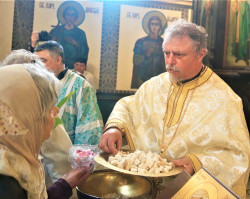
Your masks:
M0 62L10 54L12 45L13 17L15 1L0 1ZM7 20L8 19L8 20Z

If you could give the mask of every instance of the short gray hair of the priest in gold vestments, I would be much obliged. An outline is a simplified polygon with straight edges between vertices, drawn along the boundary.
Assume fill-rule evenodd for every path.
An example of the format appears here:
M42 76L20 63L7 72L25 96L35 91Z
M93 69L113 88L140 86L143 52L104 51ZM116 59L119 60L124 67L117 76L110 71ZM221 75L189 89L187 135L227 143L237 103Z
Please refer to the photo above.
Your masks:
M188 36L192 41L193 51L199 53L201 49L207 49L207 35L205 28L179 19L165 30L162 47L172 38Z

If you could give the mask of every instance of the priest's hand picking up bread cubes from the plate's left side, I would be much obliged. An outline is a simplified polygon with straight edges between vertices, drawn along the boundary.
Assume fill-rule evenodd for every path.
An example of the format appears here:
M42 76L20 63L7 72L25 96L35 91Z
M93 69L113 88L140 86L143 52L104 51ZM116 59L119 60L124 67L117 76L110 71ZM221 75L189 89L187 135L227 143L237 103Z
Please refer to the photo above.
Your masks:
M99 148L107 153L117 154L122 147L122 133L117 128L110 128L101 136Z

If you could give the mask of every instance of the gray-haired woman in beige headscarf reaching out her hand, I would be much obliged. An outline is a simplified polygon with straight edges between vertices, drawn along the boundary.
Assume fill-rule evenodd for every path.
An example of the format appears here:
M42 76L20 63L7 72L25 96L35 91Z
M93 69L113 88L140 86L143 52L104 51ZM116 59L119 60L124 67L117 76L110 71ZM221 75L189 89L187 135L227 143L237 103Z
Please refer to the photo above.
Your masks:
M0 67L0 198L69 198L89 175L72 170L46 191L38 155L59 111L57 83L38 64Z

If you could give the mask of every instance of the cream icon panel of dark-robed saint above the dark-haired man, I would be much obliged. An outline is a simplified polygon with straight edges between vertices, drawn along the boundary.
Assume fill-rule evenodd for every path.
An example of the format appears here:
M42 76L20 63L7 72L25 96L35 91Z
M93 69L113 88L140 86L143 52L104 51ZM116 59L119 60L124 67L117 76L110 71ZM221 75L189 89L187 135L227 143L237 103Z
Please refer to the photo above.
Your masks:
M59 42L66 67L83 63L95 89L99 87L102 14L102 2L35 0L33 31L39 32L40 42Z

